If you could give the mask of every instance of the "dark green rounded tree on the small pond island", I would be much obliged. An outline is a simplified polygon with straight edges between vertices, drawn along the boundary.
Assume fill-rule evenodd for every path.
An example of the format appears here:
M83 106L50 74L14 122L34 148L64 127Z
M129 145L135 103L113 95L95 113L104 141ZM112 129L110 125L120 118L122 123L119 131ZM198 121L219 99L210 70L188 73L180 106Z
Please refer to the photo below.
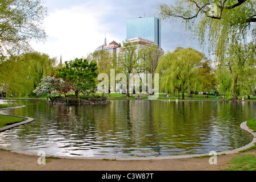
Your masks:
M63 78L68 82L71 89L78 94L86 94L88 91L97 88L95 78L97 78L97 63L87 61L86 59L74 59L65 62L62 68L55 74L58 78Z

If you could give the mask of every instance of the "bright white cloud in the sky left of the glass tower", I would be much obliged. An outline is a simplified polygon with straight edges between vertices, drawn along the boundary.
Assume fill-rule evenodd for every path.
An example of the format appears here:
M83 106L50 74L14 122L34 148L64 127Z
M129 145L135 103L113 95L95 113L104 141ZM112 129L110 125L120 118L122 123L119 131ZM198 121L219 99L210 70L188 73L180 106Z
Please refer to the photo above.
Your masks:
M51 57L62 55L63 61L87 56L103 44L105 26L99 24L103 11L102 7L97 6L96 10L89 3L54 11L45 19L47 41L31 46Z

